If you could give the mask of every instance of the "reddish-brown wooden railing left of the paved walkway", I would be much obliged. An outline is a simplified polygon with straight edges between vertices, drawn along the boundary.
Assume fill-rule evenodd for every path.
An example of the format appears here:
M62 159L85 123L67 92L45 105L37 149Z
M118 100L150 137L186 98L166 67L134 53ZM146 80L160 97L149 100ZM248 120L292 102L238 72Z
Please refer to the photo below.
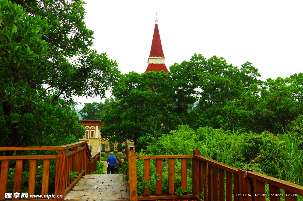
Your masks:
M80 146L78 148L78 146ZM65 150L71 149L72 151L66 152ZM43 159L43 175L42 175L42 199L39 201L62 201L65 194L75 185L82 175L91 174L95 171L96 161L100 160L100 152L93 157L88 149L87 141L80 141L72 144L66 144L57 147L0 147L0 151L24 151L24 150L58 150L58 155L29 155L29 156L0 156L1 162L1 174L0 174L0 200L5 200L5 193L7 190L8 179L8 166L9 160L16 160L15 165L15 177L13 192L8 193L20 193L22 183L22 170L23 160L29 159L29 176L28 176L28 199L30 195L35 194L36 183L36 170L37 159ZM44 198L44 195L48 194L49 188L49 176L50 176L50 159L56 159L56 177L55 177L55 195L62 195L62 197ZM71 181L70 172L77 171L78 177ZM20 194L21 197L21 194ZM26 200L13 198L13 200Z

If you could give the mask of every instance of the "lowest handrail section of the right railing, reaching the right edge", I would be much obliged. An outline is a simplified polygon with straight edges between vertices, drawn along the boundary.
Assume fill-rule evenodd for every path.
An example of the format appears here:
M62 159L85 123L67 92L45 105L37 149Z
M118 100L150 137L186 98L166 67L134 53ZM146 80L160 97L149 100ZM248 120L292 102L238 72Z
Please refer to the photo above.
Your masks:
M303 196L303 186L299 186L294 183L290 183L288 181L280 180L274 177L270 177L258 172L246 172L246 177L251 179L259 180L263 183L268 183L269 185L278 187L280 189L287 190L289 192L296 193L298 195Z

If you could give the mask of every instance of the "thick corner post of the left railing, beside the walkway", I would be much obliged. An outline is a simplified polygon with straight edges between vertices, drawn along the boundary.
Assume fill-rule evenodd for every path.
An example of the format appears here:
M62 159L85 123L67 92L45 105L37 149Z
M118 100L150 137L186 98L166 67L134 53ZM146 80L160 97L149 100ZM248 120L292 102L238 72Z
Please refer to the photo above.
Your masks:
M65 186L64 186L64 169L65 169L65 150L58 150L56 158L56 180L55 180L55 195L54 201L64 201ZM57 197L62 195L62 197Z

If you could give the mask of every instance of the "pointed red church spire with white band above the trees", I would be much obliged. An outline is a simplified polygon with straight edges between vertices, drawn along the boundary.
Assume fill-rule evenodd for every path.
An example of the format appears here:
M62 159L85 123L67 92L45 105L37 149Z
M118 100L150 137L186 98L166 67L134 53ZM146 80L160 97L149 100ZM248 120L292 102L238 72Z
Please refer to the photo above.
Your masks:
M156 17L154 36L152 38L152 43L151 43L151 52L149 53L149 57L147 59L148 66L144 73L149 71L161 71L161 70L164 70L165 73L168 73L164 61L165 61L165 57L162 50L161 39L158 29L158 20Z

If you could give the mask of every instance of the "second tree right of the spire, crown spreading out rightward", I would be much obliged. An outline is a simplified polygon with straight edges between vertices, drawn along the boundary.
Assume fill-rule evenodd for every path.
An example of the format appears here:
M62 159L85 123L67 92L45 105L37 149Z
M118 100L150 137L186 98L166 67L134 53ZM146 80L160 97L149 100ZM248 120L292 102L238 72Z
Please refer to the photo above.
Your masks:
M201 54L195 54L189 63L197 66L197 85L200 91L199 109L195 111L202 114L196 122L196 128L199 126L219 128L218 115L222 115L222 109L227 102L240 97L241 92L251 84L262 83L257 79L261 76L258 69L249 62L242 64L238 69L237 66L228 64L223 57L213 56L207 60Z

